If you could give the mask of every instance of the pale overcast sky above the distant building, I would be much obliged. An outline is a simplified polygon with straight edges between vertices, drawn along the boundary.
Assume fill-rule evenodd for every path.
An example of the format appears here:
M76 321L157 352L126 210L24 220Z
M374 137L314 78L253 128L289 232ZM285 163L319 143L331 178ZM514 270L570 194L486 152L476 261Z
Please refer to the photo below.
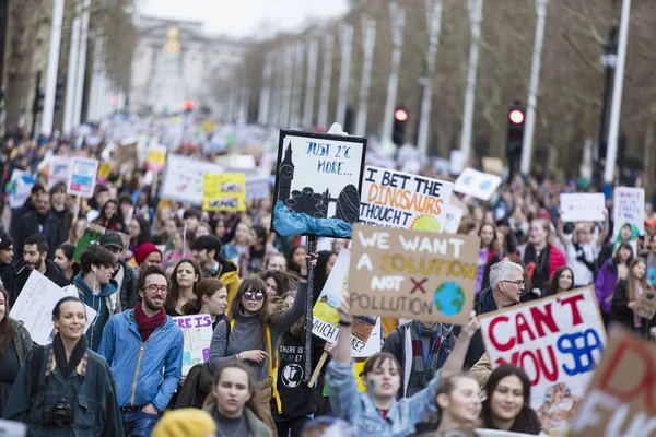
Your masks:
M200 21L212 35L268 37L344 15L348 0L139 0L143 15Z

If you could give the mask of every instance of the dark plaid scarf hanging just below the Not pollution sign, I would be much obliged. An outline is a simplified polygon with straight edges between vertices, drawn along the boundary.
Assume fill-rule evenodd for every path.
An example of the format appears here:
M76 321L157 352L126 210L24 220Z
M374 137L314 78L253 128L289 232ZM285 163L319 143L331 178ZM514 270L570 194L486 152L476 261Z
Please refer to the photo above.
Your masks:
M412 322L409 327L410 341L412 344L412 373L410 374L410 380L408 381L409 387L418 387L423 389L427 387L431 379L435 375L437 368L437 358L440 356L440 346L442 344L442 324L435 323L431 328L424 328L419 323L421 330L421 336L418 332L418 323ZM423 347L422 338L429 339L429 347ZM423 353L422 353L423 351ZM424 368L424 359L425 368ZM408 363L406 363L408 365Z

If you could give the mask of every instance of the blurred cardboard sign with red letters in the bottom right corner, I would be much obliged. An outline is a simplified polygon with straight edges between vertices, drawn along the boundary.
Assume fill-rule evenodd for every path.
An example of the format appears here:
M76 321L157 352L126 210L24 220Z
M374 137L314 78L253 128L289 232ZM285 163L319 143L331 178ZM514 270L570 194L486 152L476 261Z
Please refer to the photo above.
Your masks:
M654 343L611 327L601 362L567 435L656 436L655 369Z

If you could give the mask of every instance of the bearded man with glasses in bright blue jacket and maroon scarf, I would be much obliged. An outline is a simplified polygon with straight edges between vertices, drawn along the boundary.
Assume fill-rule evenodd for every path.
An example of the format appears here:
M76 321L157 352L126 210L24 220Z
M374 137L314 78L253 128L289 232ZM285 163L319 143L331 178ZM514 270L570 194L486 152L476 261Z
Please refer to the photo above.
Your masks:
M137 290L141 302L109 319L98 353L116 378L126 436L148 437L180 380L185 341L164 310L164 270L143 269Z

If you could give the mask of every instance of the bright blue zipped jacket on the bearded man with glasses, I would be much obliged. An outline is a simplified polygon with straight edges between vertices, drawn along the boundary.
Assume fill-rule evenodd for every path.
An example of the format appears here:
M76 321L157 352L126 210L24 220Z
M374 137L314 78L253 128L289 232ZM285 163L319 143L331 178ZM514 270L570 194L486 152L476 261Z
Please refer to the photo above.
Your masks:
M152 403L163 412L181 378L185 340L169 316L143 341L132 309L109 319L98 353L105 357L118 387L120 406Z

